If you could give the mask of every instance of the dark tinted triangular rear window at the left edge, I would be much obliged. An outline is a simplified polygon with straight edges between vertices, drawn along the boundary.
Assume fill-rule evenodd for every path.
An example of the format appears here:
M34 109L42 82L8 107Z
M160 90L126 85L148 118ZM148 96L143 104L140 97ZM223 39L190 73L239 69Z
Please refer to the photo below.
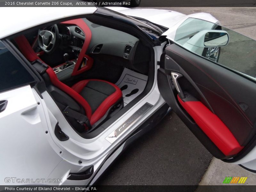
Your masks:
M28 85L34 78L0 41L0 92Z

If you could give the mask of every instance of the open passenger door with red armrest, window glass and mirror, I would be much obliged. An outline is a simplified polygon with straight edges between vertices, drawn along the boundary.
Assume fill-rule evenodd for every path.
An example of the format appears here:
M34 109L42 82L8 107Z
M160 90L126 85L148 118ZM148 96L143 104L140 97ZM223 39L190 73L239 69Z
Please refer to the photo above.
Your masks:
M170 34L162 97L213 156L256 172L256 42L194 18Z

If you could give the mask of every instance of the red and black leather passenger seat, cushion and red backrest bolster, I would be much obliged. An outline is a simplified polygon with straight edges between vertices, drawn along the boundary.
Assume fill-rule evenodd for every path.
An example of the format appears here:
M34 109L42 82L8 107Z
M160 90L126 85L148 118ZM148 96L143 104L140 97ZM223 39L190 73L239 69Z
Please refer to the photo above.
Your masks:
M29 61L40 60L25 36L15 38L15 42ZM91 125L100 120L111 106L123 99L122 91L110 82L99 79L86 79L69 87L57 78L51 67L47 68L46 73L54 86L67 93L84 108L85 115Z

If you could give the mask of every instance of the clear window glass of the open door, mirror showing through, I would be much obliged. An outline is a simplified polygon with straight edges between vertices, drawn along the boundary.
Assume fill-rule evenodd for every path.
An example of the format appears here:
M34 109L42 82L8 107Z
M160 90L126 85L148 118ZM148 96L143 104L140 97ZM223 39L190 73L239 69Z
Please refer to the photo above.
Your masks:
M256 80L256 41L209 21L188 18L174 42L222 66Z

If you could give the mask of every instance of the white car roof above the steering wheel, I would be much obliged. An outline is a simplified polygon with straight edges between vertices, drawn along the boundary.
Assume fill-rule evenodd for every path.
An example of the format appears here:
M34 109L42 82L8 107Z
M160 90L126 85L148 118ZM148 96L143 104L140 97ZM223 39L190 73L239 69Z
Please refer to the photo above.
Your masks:
M96 10L96 7L1 7L0 39L46 22L89 14Z

